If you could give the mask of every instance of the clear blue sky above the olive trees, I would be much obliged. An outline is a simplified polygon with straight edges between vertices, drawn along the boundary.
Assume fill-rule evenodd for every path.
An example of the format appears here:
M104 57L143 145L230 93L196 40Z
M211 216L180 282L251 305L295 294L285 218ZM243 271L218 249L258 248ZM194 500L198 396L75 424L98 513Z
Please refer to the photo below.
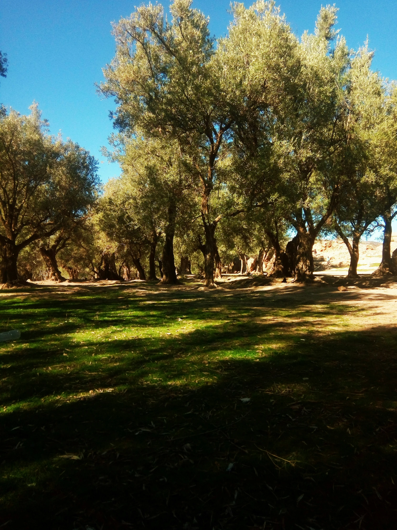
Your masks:
M324 2L325 4L326 2ZM314 29L321 0L281 0L292 30L299 36ZM119 174L100 154L112 133L112 100L101 100L95 82L114 55L111 21L128 16L138 2L126 0L0 0L0 50L8 55L8 75L0 78L0 102L21 113L38 101L50 131L89 149L102 163L103 181ZM227 32L228 0L194 0L210 16L215 36ZM248 5L246 3L246 5ZM350 48L369 37L375 50L373 66L390 79L397 78L396 0L340 0L338 28Z

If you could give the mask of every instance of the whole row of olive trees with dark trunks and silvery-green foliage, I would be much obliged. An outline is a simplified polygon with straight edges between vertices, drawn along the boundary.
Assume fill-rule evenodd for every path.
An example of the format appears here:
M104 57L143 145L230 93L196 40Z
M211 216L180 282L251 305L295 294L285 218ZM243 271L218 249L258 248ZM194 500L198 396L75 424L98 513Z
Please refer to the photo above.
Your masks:
M347 48L337 9L297 39L273 2L234 4L218 41L189 0L170 12L141 6L114 25L98 91L117 104L105 152L122 173L103 190L94 159L46 135L36 107L3 113L0 282L17 280L19 257L25 276L44 262L57 280L61 268L173 284L177 256L212 287L247 254L259 273L273 255L269 272L305 281L324 234L346 243L354 277L360 238L380 226L377 274L397 273L397 89L367 44Z

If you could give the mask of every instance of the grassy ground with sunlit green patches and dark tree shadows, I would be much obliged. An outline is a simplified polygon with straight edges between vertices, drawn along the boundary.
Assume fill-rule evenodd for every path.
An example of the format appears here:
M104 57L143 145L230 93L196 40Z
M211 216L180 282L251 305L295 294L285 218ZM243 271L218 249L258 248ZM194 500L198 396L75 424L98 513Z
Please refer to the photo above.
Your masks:
M0 528L396 527L381 295L244 281L0 297Z

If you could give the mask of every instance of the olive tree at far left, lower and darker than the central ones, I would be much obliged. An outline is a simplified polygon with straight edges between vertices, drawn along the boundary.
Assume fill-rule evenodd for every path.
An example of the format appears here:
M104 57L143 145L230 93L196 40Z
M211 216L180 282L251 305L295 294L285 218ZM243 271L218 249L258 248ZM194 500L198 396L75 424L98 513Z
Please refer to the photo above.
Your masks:
M0 284L18 281L23 248L85 216L96 197L94 157L47 126L37 104L0 117Z

